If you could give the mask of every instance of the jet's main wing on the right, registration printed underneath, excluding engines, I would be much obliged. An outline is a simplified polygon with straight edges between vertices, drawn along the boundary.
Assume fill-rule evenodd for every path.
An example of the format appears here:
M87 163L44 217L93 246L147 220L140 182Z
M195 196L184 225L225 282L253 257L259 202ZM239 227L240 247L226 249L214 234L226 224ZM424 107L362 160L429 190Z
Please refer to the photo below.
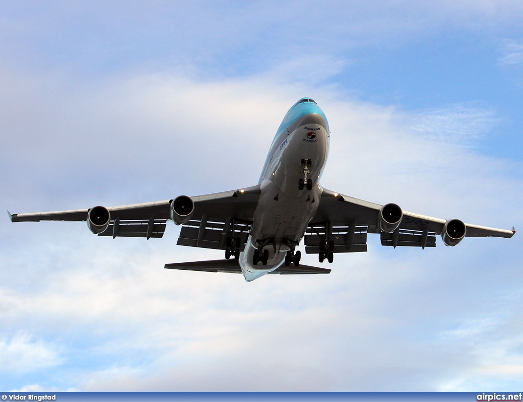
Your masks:
M446 219L403 211L403 219L393 232L380 229L382 205L323 189L316 215L305 235L305 251L320 251L320 239L330 229L334 252L367 251L367 233L380 233L381 244L391 246L436 246L436 236L444 233ZM330 228L329 228L330 226ZM516 231L465 223L465 237L511 238Z

